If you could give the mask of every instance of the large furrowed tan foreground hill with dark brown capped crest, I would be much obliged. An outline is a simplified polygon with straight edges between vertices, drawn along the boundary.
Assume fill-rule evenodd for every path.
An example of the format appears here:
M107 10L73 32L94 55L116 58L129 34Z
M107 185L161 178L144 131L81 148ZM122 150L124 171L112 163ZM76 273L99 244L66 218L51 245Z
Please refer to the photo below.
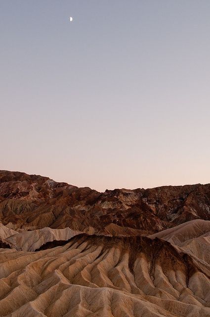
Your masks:
M38 252L0 249L0 316L210 317L209 276L208 263L157 238L82 234Z

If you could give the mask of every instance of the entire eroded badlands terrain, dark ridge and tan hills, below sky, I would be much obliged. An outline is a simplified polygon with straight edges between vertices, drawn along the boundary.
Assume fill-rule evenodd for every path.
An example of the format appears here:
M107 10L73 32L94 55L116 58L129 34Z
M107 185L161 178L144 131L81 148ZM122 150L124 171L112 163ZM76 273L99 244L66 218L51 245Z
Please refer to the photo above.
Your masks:
M0 171L0 317L210 317L210 184Z

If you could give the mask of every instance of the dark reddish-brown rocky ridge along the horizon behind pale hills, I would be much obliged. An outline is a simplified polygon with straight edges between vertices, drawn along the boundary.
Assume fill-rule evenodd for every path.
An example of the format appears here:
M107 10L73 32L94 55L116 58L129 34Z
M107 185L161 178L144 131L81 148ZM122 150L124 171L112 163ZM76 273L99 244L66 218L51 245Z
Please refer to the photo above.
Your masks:
M153 233L193 219L210 220L210 184L99 193L39 175L0 172L0 220L14 230L97 233L115 224Z

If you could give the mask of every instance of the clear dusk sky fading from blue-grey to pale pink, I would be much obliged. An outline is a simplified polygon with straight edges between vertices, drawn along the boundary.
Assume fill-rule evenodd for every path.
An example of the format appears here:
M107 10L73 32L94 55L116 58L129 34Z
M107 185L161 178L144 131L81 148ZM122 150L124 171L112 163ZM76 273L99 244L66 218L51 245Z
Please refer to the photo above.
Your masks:
M0 91L0 169L210 183L209 0L1 0Z

